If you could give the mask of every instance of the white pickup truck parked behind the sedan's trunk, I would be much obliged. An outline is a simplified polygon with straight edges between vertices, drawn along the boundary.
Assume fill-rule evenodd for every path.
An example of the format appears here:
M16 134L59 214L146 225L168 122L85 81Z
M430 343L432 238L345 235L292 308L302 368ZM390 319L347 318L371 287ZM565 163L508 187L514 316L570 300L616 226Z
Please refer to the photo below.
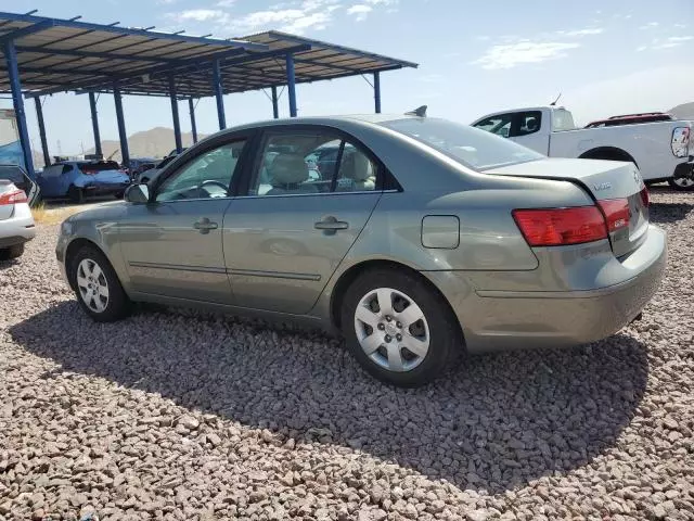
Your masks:
M668 181L694 190L693 122L664 120L576 128L561 106L538 106L487 114L472 124L551 157L582 157L634 163L644 181Z

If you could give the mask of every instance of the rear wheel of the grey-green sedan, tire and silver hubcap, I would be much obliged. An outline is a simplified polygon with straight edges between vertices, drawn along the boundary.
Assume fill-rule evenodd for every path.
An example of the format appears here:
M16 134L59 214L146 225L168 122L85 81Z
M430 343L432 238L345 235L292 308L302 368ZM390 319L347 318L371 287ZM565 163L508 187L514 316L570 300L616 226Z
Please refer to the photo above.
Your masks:
M433 381L463 350L458 319L442 296L404 271L373 269L360 276L345 293L340 319L359 364L398 386Z

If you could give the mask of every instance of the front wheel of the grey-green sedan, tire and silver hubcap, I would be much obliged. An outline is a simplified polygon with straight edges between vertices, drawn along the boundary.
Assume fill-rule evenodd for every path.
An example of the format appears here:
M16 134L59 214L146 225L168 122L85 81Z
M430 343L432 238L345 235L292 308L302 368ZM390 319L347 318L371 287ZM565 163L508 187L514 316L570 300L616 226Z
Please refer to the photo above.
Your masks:
M77 302L97 322L127 317L131 302L106 256L94 246L82 246L69 259L69 277Z

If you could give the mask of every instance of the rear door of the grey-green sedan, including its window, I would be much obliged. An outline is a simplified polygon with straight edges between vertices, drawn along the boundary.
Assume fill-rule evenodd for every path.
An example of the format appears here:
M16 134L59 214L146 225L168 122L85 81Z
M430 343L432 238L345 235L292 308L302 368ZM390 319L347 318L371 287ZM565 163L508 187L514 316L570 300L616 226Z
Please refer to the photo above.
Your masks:
M339 149L330 178L311 180L306 163ZM245 195L224 218L224 260L234 304L308 313L367 225L382 193L383 167L349 136L319 126L268 131Z

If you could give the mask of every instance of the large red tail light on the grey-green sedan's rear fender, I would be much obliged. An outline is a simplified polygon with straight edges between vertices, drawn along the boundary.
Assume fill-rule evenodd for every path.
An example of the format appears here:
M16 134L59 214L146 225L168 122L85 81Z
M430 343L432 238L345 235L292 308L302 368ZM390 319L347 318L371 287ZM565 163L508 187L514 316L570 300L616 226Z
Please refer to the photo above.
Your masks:
M607 239L597 206L514 209L513 218L530 246L562 246Z

